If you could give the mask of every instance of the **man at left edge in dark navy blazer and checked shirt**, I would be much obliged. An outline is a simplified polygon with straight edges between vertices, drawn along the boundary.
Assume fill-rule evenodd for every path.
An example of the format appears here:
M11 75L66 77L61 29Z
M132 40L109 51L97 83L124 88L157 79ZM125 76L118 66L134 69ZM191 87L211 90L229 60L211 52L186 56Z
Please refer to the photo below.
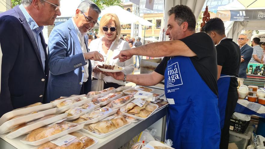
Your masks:
M49 67L42 29L54 24L61 15L59 8L60 0L22 0L0 14L0 116L46 102Z

